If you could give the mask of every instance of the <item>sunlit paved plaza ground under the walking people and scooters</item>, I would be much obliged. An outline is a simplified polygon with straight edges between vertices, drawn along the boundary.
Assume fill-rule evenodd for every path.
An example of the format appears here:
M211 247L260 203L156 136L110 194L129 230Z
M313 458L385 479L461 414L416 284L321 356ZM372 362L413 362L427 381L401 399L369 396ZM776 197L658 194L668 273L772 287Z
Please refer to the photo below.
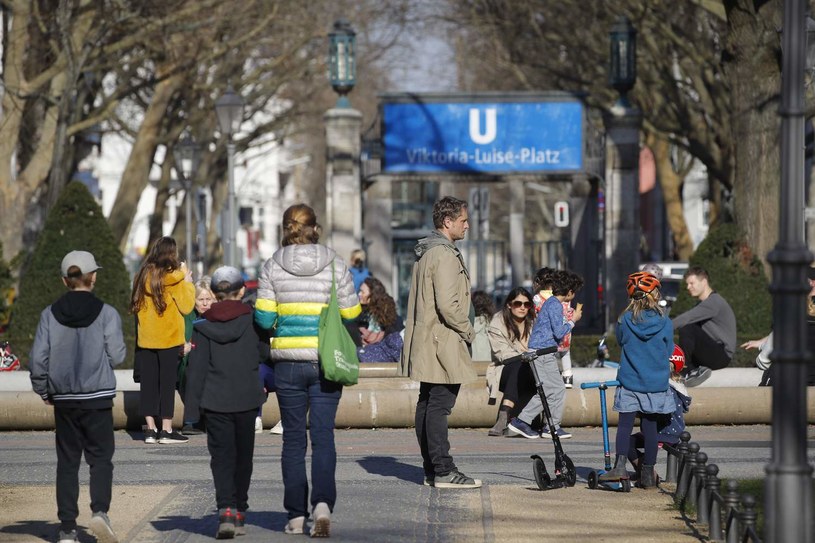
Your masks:
M770 459L767 426L690 428L724 478L763 475ZM531 454L553 467L548 439L490 438L485 429L451 431L459 468L484 481L479 490L442 490L421 484L415 435L410 429L337 431L338 503L332 538L349 542L660 541L703 539L704 529L684 519L664 491L628 494L590 490L588 472L602 467L598 428L575 428L564 441L578 471L573 488L541 492ZM612 440L614 429L612 428ZM56 456L52 432L0 433L0 541L54 541ZM809 428L815 451L815 427ZM121 541L197 543L216 530L214 491L205 436L184 445L145 445L140 433L116 432L110 517ZM281 437L257 436L248 534L239 543L298 541L282 533L286 522L280 479ZM810 461L815 462L815 453ZM660 456L658 471L664 473ZM81 471L87 482L87 467ZM93 541L87 487L80 496L80 540ZM300 539L298 539L300 538Z

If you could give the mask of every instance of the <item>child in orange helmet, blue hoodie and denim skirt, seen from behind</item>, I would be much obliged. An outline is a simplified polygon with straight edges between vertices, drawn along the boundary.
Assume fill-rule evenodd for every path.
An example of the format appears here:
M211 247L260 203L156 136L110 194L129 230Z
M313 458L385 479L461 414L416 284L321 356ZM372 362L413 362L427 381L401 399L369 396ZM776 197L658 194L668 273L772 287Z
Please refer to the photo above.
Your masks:
M641 418L645 440L639 486L657 486L657 423L660 416L673 413L676 406L671 393L670 367L665 363L674 349L673 324L662 313L659 279L648 272L628 276L630 302L617 321L617 342L622 354L614 395L614 410L619 413L614 469L600 476L601 481L628 479L626 462L634 419Z

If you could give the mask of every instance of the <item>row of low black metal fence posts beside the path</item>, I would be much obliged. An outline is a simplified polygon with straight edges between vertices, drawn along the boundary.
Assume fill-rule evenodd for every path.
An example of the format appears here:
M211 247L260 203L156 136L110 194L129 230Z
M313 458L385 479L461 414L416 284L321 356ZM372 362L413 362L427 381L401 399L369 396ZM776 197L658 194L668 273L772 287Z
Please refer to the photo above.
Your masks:
M690 433L682 432L679 439L677 445L666 444L663 448L668 452L665 481L676 483L674 500L683 512L696 511L696 523L708 526L710 541L761 543L755 498L740 494L738 482L733 479L727 481L722 492L719 467L707 463L707 454L698 443L690 442Z

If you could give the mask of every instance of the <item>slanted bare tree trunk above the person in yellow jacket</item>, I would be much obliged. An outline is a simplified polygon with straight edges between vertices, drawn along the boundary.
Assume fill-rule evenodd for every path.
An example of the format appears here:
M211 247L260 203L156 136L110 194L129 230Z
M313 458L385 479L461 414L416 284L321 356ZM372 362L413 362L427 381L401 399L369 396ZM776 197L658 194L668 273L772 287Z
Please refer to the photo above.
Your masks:
M166 73L168 70L162 71ZM139 127L136 141L133 142L133 149L122 173L122 182L119 184L119 192L116 194L109 219L113 236L119 240L122 252L125 250L139 198L150 178L150 168L153 165L167 106L183 82L183 75L176 73L156 84L153 99L144 112L144 121Z

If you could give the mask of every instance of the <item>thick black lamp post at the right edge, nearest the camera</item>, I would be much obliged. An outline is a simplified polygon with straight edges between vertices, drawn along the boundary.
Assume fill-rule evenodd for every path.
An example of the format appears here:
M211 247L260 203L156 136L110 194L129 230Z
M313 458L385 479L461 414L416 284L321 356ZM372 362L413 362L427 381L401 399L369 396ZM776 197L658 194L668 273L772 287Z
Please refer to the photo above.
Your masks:
M807 461L806 296L812 253L803 238L804 60L807 0L785 0L781 64L781 195L773 267L772 458L765 480L764 541L813 541L812 466Z

